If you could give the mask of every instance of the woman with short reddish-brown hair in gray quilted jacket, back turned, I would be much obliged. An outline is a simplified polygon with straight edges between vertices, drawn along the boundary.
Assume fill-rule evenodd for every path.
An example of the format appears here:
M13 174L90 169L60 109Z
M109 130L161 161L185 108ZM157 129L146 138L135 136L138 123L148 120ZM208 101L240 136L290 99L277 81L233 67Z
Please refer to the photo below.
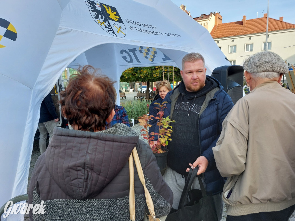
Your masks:
M73 130L55 128L32 174L29 203L46 204L31 220L130 220L129 163L136 146L157 217L171 209L173 193L163 181L150 147L122 123L105 129L114 116L114 81L91 66L72 75L61 93L62 113ZM135 167L136 220L146 208Z

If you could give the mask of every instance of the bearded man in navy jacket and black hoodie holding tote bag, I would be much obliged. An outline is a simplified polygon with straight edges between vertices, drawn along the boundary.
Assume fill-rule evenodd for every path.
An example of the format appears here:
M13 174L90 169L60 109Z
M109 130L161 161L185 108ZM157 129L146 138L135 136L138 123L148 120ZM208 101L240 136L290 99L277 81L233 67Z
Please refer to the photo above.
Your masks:
M214 194L214 204L219 220L222 218L222 188L224 178L216 168L212 147L222 131L222 121L233 107L232 99L221 84L206 75L204 57L189 53L182 59L181 83L169 91L164 117L170 116L172 141L168 144L168 168L164 180L173 191L172 207L178 208L185 184L186 169L199 165L207 191ZM198 179L194 189L200 189Z

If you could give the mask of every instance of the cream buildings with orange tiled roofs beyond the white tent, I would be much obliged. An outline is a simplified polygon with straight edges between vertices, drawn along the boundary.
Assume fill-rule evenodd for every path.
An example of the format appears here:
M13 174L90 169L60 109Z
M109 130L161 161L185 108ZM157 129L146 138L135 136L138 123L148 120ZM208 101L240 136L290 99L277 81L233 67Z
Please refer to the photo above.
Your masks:
M186 10L185 12L188 14ZM262 18L248 20L244 15L241 21L224 24L219 12L201 14L193 19L210 32L218 47L233 65L243 65L247 57L265 50L266 47L267 50L280 55L289 66L295 65L295 24L284 22L283 17L268 18L267 46L267 14Z

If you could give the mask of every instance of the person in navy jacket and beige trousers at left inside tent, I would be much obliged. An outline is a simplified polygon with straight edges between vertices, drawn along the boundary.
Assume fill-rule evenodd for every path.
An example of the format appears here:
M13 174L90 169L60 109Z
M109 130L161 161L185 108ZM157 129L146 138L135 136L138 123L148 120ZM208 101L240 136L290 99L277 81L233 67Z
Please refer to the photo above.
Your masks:
M58 116L49 93L42 101L40 107L40 119L38 126L40 132L39 147L41 154L46 151L47 131L49 133L50 142L53 134L53 128L56 127L56 122L58 122Z

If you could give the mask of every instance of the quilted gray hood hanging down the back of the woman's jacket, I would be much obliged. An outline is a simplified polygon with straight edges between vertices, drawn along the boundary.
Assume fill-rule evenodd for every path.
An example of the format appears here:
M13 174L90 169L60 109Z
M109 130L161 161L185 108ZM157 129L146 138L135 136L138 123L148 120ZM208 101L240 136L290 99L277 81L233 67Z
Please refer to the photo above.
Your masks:
M137 142L136 132L122 123L99 132L55 128L45 163L65 194L89 199L117 176Z

